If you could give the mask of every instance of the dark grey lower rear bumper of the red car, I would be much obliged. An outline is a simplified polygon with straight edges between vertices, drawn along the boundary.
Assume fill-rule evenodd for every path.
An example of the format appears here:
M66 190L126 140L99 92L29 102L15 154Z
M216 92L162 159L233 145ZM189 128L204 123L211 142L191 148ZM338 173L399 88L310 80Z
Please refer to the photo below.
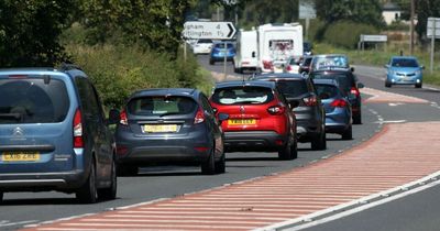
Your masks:
M227 151L273 151L284 146L286 141L285 135L273 131L224 132Z

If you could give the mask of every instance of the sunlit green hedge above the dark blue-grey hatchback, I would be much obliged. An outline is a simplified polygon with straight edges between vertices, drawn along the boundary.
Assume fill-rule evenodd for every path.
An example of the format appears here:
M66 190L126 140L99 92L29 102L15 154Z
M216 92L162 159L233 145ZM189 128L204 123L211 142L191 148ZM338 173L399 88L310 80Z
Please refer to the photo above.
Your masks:
M188 56L186 62L182 55L170 61L167 54L124 45L68 45L67 48L75 63L92 79L109 108L121 107L133 91L140 89L210 85L197 72L194 56Z

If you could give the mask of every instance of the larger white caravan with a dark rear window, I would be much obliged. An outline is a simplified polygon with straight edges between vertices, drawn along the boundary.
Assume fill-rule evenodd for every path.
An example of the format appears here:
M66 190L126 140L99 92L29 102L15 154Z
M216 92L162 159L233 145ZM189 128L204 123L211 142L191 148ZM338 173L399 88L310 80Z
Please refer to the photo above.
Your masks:
M302 56L302 25L264 24L257 29L257 59L263 73L274 72L274 64Z

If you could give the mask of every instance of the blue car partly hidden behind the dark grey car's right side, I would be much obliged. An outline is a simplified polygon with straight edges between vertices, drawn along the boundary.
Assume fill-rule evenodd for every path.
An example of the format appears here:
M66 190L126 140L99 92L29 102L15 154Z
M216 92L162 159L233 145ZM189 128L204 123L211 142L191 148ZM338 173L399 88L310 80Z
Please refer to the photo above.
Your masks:
M352 112L348 96L334 79L315 79L314 82L326 110L326 132L352 140Z

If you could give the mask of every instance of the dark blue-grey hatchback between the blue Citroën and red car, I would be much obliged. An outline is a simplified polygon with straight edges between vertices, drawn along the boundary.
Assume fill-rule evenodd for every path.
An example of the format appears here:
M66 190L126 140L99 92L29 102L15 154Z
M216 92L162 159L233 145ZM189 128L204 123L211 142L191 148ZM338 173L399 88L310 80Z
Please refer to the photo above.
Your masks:
M116 139L120 175L135 175L140 166L151 164L195 164L204 174L224 173L223 132L201 91L141 90L130 97L119 119Z

